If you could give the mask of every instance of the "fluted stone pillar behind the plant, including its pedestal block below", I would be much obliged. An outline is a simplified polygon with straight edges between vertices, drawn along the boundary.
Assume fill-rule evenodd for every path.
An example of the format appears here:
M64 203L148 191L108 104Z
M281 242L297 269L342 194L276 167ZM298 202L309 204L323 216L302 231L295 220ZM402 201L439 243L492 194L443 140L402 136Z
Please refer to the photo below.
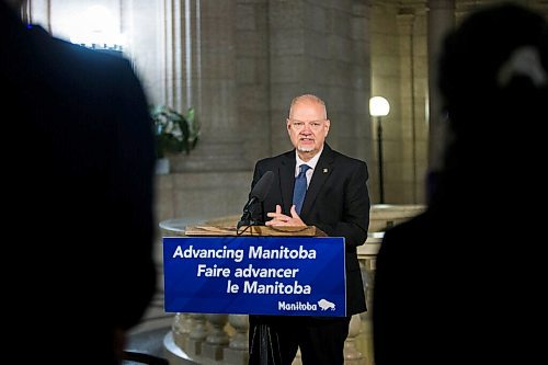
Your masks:
M171 207L165 218L237 214L246 204L253 166L237 109L237 1L158 2L164 24L158 52L165 54L158 103L183 114L193 107L201 125L196 148L170 156L171 174L160 179L159 196Z

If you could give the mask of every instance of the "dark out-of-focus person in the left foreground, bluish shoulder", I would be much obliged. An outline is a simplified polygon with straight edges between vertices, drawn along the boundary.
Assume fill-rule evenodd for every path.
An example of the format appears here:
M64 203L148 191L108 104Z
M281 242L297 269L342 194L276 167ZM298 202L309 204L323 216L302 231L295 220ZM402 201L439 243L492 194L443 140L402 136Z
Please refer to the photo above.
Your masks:
M3 265L3 356L116 364L156 289L141 85L126 59L23 24L0 0L0 91L2 256L16 265Z

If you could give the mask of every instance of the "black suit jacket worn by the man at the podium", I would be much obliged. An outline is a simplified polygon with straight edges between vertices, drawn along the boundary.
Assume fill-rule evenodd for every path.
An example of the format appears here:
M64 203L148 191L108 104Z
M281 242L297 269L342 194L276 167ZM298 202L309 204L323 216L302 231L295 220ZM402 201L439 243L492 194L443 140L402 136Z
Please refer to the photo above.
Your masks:
M252 207L254 219L269 220L266 213L275 212L276 204L289 215L295 163L295 150L256 162L252 187L266 171L272 171L274 179L264 202ZM307 225L320 228L328 236L345 238L349 316L366 310L356 248L365 243L369 226L367 179L365 162L341 155L326 144L300 213Z

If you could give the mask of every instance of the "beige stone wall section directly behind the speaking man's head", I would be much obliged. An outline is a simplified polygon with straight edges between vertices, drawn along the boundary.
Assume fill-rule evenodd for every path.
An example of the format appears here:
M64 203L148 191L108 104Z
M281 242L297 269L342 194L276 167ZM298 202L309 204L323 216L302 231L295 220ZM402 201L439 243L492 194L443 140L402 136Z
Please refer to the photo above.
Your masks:
M290 148L285 129L290 100L315 93L328 105L328 142L370 160L366 2L271 1L267 10L271 155Z

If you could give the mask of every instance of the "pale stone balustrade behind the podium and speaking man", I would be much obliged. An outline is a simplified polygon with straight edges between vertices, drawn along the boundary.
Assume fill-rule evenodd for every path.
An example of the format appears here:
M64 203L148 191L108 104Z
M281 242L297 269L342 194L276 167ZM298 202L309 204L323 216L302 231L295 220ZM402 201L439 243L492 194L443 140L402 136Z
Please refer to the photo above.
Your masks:
M373 307L375 260L384 231L421 212L422 205L373 205L369 235L357 254L367 307ZM236 226L240 216L227 216L204 223L210 226ZM171 219L160 224L169 236L184 236L184 221ZM171 333L164 339L165 356L170 364L247 365L248 316L178 313ZM300 365L297 353L293 365ZM352 317L349 337L344 345L345 365L373 365L372 318L368 311Z

